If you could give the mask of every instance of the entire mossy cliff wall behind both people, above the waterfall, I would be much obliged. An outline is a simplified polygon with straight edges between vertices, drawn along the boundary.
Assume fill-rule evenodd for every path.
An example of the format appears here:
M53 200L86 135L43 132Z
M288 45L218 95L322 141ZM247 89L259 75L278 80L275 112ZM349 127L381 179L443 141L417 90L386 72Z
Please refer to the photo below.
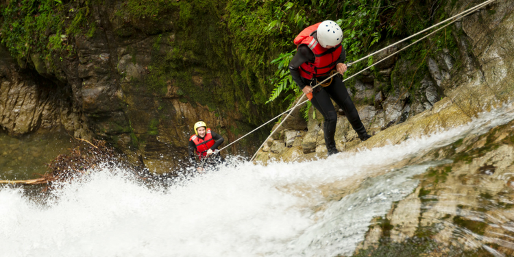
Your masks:
M392 8L380 9L382 1L370 1L376 10L389 10L376 19L394 29L380 30L380 40L369 51L478 2L391 1ZM350 3L323 2L327 8L321 4L0 1L0 126L14 136L64 127L75 137L106 139L152 171L164 172L186 156L196 121L206 121L230 143L289 106L282 100L294 94L291 90L265 104L274 86L269 78L276 71L270 62L294 49L291 38L309 23L350 14L345 11ZM490 5L347 82L369 132L377 134L417 114L437 112L434 106L442 104L441 99L460 99L452 93L462 84L482 84L489 74L495 82L509 78L509 30L494 26L509 27L510 13L510 3ZM352 36L365 44L366 39L347 35ZM401 47L370 61L378 62ZM347 45L347 51L355 49ZM356 57L349 56L349 61ZM321 114L313 108L308 114L305 121L297 112L259 160L323 156ZM467 119L473 114L466 113ZM358 140L342 112L340 118L337 147L346 151ZM268 129L228 152L253 154Z

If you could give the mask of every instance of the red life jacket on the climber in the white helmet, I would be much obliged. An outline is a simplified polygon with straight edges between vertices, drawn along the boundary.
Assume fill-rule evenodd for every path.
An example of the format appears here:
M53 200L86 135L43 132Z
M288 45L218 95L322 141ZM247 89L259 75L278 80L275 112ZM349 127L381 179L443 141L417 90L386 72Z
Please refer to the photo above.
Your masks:
M335 66L343 47L341 44L330 49L321 47L319 42L311 36L317 31L320 23L310 25L306 29L302 30L298 36L296 36L295 45L297 49L300 45L307 45L315 56L314 62L304 62L299 66L299 72L302 77L306 79L313 79L313 77L327 77L330 75Z

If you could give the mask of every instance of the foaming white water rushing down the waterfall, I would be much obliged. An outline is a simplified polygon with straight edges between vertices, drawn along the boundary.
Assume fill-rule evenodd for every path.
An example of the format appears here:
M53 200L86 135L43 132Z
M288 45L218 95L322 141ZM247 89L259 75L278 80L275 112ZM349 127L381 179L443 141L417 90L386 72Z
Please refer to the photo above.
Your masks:
M238 163L167 189L104 169L65 185L45 206L3 187L0 256L349 255L371 219L412 193L413 175L436 163L388 171L392 164L512 119L506 107L400 145L313 162ZM366 177L376 178L341 200L324 195Z

